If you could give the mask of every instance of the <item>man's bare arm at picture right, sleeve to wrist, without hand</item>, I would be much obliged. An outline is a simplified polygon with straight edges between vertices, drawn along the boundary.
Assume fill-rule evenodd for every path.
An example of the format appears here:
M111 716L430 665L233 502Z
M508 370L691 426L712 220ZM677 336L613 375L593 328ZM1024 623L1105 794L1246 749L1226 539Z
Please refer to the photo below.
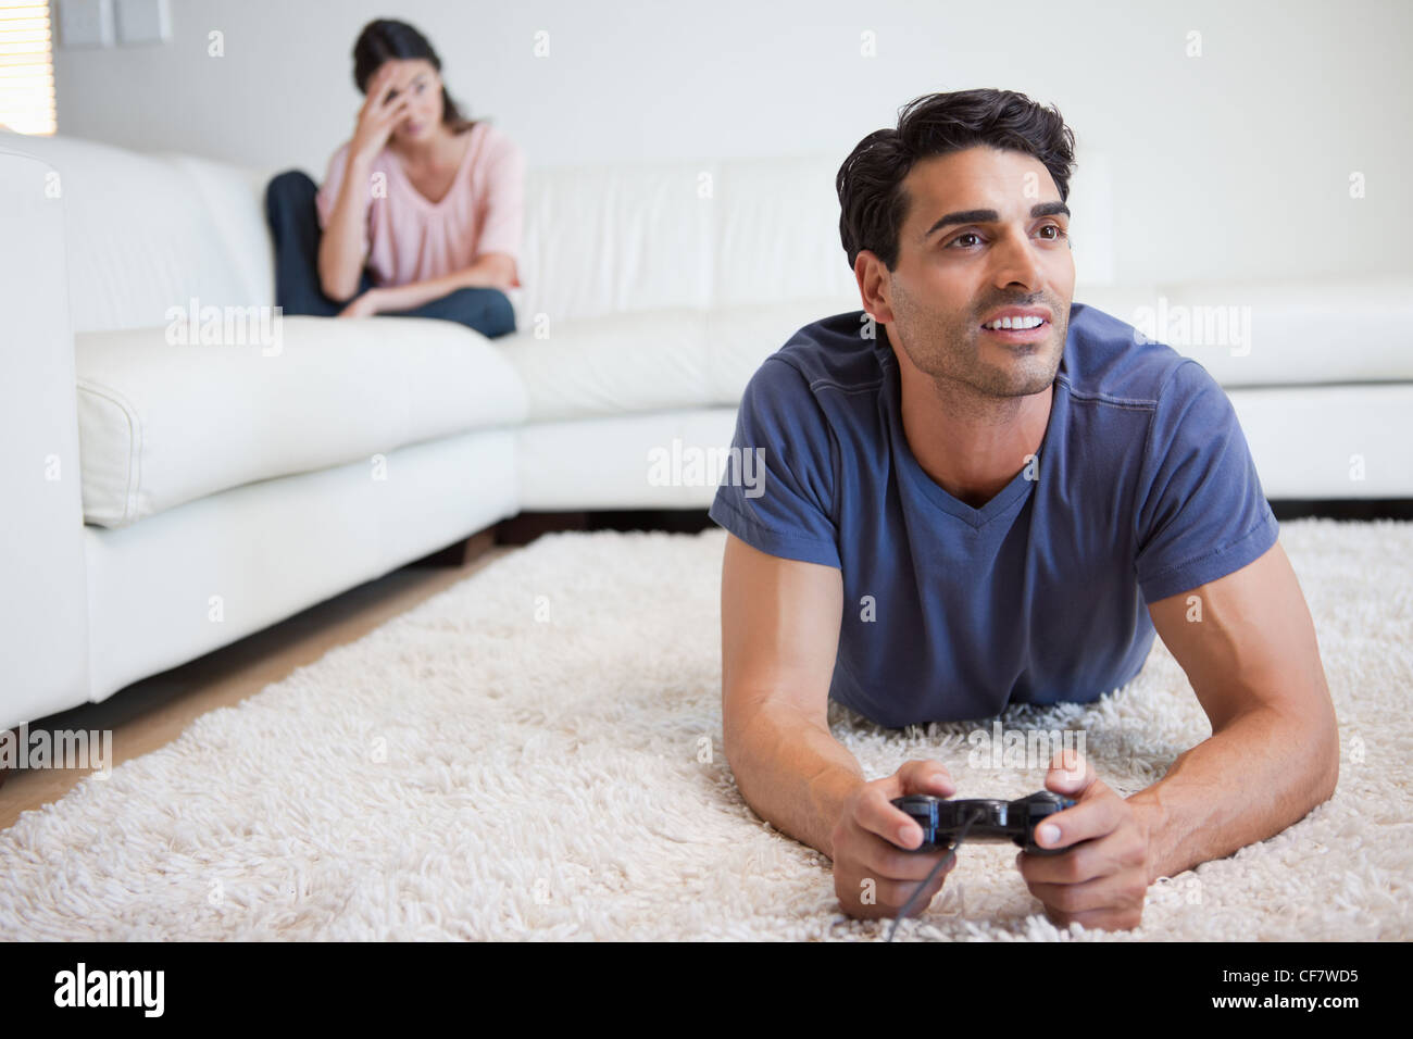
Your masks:
M1328 800L1340 735L1314 622L1279 541L1149 614L1212 724L1128 799L1149 831L1152 884L1272 837Z

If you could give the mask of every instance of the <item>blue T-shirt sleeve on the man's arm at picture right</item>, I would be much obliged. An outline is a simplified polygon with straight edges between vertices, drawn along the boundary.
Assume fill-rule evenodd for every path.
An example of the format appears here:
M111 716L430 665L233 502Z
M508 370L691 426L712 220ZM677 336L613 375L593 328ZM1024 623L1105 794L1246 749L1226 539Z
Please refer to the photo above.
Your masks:
M1236 411L1195 360L1159 394L1137 483L1135 568L1146 602L1241 570L1280 533Z

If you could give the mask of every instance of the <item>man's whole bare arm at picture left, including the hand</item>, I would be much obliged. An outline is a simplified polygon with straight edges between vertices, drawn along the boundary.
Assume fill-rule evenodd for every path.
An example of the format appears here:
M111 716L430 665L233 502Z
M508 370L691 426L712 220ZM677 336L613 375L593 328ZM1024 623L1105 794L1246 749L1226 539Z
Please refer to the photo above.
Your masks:
M849 916L896 916L934 867L923 912L957 865L945 852L909 852L923 830L892 804L957 787L941 762L910 761L865 780L829 734L829 680L844 618L834 567L767 556L726 536L721 581L722 727L726 761L746 803L777 830L834 862Z

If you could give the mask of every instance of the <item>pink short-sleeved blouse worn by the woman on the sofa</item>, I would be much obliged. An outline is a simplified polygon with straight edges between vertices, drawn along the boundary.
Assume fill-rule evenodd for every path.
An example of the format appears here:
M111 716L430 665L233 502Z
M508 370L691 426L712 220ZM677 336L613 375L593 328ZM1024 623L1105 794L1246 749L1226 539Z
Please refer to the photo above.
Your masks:
M524 154L489 123L476 123L447 196L438 202L413 187L401 160L383 148L369 174L367 267L377 286L406 286L465 270L485 253L520 259L524 222ZM349 146L329 160L315 196L326 228L343 182ZM382 174L382 175L380 175ZM516 271L514 286L520 287Z

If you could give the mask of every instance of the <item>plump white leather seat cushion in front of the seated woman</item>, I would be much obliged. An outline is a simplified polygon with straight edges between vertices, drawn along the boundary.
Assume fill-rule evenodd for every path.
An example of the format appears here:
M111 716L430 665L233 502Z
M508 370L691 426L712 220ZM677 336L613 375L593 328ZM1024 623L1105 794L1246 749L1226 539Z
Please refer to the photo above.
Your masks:
M261 314L271 324L249 345L184 342L191 325L175 315L75 336L85 522L122 527L243 483L524 420L514 370L462 325ZM215 327L187 338L203 329Z

